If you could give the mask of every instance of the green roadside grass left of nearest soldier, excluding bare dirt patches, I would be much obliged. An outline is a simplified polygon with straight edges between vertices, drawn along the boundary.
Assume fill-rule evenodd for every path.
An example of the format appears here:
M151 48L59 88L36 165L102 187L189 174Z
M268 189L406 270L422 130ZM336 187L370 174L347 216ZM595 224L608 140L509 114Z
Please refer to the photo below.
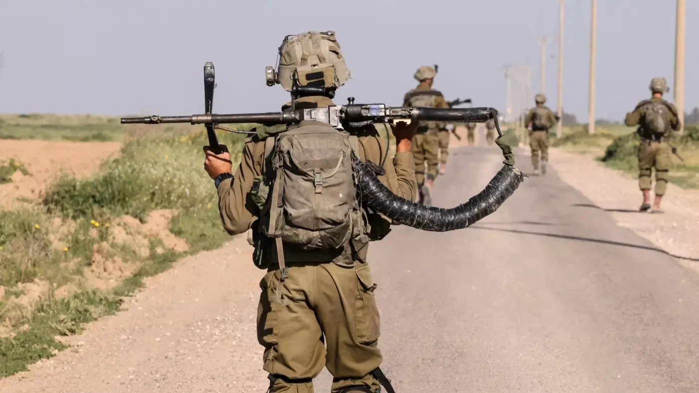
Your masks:
M41 116L18 118L38 121ZM40 206L0 212L0 285L8 288L0 299L0 322L15 327L15 336L0 339L0 377L66 348L55 336L78 333L85 323L116 312L120 299L140 288L145 277L163 272L184 255L214 249L230 239L220 223L215 188L202 168L206 133L192 133L189 127L155 129L167 132L132 138L122 154L103 163L93 177L55 181ZM235 152L243 137L220 133L219 140L233 152L234 163L238 161L240 154ZM170 230L187 241L189 251L158 253L164 247L152 238L150 255L143 258L127 246L111 244L110 256L139 264L117 287L106 292L81 287L71 297L39 299L32 309L8 308L18 283L37 278L52 288L73 283L89 267L93 247L109 242L107 223L124 214L143 221L154 209L178 209ZM59 235L52 225L58 219L71 222L72 230Z

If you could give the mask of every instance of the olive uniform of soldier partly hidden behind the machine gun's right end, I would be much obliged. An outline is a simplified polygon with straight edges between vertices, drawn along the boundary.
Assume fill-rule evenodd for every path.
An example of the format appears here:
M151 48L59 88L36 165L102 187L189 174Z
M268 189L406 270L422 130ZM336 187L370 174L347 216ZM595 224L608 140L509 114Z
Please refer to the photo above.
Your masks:
M424 102L429 101L425 104ZM420 105L421 104L421 105ZM415 89L408 91L403 97L403 106L449 107L444 96L439 91L433 90L428 84L420 83ZM439 131L445 124L435 121L420 124L417 135L412 139L412 155L415 158L415 178L418 186L424 184L425 179L436 179L438 176L440 139ZM447 133L447 138L449 133ZM446 160L446 157L445 157ZM427 170L425 171L425 166Z

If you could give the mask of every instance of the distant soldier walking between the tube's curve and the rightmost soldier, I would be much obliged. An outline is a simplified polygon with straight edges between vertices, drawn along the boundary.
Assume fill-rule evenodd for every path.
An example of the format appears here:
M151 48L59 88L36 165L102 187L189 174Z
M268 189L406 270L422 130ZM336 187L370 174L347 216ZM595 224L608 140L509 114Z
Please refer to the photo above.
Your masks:
M546 164L549 161L549 128L558 122L558 116L544 106L545 95L537 94L534 101L536 107L526 115L524 124L531 129L529 147L531 147L531 165L534 167L534 175L539 175L539 151L541 151L541 174L546 175Z

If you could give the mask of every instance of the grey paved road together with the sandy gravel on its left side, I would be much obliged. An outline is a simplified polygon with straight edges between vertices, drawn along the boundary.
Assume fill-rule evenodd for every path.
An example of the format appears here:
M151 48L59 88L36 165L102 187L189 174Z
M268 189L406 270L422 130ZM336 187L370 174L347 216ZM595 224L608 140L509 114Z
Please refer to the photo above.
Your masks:
M436 205L480 191L501 159L495 147L452 157ZM554 172L473 228L396 228L375 244L382 368L396 390L698 392L699 275L587 204ZM248 251L238 239L188 258L77 350L0 391L264 392ZM324 373L316 391L328 385Z

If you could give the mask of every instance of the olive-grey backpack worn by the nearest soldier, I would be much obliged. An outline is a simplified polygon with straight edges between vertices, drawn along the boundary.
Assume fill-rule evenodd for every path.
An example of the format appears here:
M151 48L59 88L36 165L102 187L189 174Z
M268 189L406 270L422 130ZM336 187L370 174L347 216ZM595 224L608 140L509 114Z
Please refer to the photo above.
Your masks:
M356 136L317 121L266 138L263 176L250 194L260 207L259 237L275 242L280 286L286 262L334 261L347 255L350 240L366 237L352 163L357 143ZM254 260L266 267L261 255ZM277 293L282 302L280 288Z

